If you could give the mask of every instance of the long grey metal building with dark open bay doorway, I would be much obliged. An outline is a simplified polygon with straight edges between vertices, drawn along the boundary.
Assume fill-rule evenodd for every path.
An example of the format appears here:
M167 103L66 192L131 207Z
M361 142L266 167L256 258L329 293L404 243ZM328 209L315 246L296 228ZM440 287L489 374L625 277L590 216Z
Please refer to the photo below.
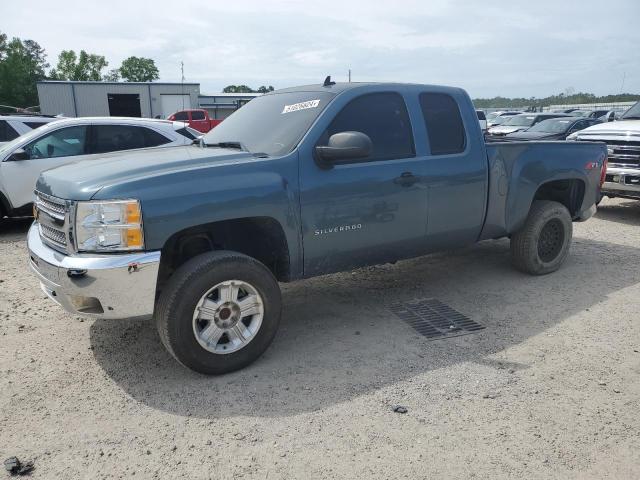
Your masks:
M37 83L40 111L65 117L165 118L198 108L199 83L70 82Z

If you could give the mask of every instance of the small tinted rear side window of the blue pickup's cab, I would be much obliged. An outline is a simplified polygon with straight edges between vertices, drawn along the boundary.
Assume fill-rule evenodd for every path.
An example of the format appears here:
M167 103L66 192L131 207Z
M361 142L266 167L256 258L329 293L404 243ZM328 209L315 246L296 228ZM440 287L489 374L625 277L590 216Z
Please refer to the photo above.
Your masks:
M420 106L427 124L432 155L460 153L466 144L458 104L442 93L420 94Z

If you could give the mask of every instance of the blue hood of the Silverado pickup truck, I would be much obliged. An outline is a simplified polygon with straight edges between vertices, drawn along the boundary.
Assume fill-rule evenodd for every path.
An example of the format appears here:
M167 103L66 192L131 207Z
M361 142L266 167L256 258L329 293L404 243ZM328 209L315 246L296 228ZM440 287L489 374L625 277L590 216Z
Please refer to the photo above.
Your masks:
M114 152L95 157L43 172L36 190L66 200L90 200L102 188L123 182L257 160L247 152L191 145Z

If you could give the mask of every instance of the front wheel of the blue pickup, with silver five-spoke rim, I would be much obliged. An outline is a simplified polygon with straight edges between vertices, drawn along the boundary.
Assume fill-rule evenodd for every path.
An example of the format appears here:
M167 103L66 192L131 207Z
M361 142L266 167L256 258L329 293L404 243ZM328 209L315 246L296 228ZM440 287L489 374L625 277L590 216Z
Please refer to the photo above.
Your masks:
M253 313L243 316L243 309ZM220 375L262 355L278 330L281 310L280 287L267 267L241 253L216 251L176 270L160 295L155 321L178 362Z

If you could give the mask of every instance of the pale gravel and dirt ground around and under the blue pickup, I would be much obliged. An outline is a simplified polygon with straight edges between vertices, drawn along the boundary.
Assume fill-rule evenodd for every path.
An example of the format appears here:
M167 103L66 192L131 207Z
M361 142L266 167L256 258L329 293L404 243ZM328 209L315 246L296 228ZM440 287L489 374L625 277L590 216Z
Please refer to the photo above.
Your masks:
M33 478L640 478L640 202L605 199L544 277L490 241L284 285L266 354L213 378L149 321L47 300L28 225L0 227L0 460ZM425 297L486 329L387 309Z

